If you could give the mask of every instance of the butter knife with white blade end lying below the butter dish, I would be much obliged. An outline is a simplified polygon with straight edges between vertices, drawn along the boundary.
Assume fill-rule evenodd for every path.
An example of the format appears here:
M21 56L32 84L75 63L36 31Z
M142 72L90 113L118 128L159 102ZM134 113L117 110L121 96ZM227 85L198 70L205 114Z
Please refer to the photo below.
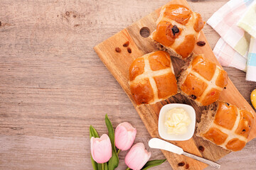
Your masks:
M154 149L163 149L169 152L173 152L175 154L183 154L186 157L190 157L192 159L196 159L200 162L203 162L205 164L208 164L210 166L213 166L215 169L220 169L220 164L217 164L215 162L212 162L208 159L204 159L202 157L198 157L194 154L189 154L188 152L184 152L181 147L177 147L176 145L173 145L169 142L166 142L164 140L160 140L158 138L152 138L149 140L149 147L154 148Z

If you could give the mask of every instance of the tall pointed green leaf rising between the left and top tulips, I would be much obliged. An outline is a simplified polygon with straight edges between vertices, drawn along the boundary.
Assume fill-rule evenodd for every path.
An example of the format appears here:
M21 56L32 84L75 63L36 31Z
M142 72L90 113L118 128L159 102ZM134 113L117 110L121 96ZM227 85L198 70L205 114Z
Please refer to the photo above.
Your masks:
M114 145L114 128L112 126L112 123L110 122L110 119L107 117L107 114L105 115L105 123L107 125L107 130L109 132L109 137L112 145L112 157L108 162L108 170L114 170L115 168L117 168L119 164L119 158L117 155L117 150L115 149Z

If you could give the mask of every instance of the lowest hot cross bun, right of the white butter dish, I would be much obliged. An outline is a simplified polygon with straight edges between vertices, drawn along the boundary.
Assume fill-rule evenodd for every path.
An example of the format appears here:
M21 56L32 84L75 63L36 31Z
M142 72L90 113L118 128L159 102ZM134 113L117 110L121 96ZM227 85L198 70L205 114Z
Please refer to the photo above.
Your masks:
M238 151L246 145L253 120L252 113L217 101L202 114L196 135L224 149Z

